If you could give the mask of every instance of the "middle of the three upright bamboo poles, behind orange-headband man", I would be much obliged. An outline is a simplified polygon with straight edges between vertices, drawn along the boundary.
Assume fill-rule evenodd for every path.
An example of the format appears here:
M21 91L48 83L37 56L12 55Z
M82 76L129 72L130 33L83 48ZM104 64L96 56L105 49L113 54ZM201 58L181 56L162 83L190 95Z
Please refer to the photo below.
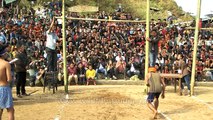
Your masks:
M149 21L150 21L150 1L147 0L147 7L146 7L146 38L149 38ZM148 74L148 67L149 67L149 41L146 40L146 57L145 57L145 79ZM148 92L148 89L146 89L146 92Z

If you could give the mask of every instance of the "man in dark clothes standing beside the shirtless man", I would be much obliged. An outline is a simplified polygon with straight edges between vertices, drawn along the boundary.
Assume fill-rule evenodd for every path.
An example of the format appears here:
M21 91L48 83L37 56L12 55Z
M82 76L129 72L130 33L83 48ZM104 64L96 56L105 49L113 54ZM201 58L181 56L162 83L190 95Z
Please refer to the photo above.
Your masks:
M16 58L18 59L15 63L15 72L16 72L16 94L17 97L27 96L25 85L26 85L26 67L28 65L27 53L25 52L25 46L17 45L17 54ZM21 89L21 92L20 92ZM21 94L20 94L21 93Z

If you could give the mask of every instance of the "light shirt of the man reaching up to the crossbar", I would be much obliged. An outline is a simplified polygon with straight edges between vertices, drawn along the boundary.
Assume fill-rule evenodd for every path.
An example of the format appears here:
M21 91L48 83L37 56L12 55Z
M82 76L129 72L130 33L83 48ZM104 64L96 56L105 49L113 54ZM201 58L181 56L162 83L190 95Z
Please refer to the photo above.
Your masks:
M47 31L46 47L52 50L55 50L57 40L58 40L58 36L55 33Z

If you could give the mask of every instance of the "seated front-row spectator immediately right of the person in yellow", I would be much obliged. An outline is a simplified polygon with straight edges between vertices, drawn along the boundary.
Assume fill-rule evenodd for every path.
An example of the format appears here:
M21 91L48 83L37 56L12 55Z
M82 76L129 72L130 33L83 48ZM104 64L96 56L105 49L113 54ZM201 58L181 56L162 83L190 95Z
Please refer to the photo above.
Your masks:
M98 73L103 73L105 76L105 79L107 79L107 70L105 68L105 62L103 59L99 58L98 59L98 64L96 67L96 77L98 78Z

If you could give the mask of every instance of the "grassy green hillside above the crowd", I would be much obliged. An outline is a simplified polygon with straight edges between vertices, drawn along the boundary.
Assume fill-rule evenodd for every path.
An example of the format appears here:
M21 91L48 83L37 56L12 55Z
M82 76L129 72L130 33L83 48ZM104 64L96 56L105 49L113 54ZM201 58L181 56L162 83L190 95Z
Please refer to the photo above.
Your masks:
M28 0L19 0L21 6L30 7ZM44 2L52 0L37 0L35 5L43 5ZM57 1L57 0L55 0ZM134 17L145 19L146 17L146 1L147 0L65 0L67 6L74 5L95 5L99 6L99 10L112 13L118 4L122 4L124 11L130 12ZM150 0L150 7L157 8L159 11L151 11L151 19L165 19L168 17L167 11L180 18L189 18L189 15L183 16L183 10L174 0Z

